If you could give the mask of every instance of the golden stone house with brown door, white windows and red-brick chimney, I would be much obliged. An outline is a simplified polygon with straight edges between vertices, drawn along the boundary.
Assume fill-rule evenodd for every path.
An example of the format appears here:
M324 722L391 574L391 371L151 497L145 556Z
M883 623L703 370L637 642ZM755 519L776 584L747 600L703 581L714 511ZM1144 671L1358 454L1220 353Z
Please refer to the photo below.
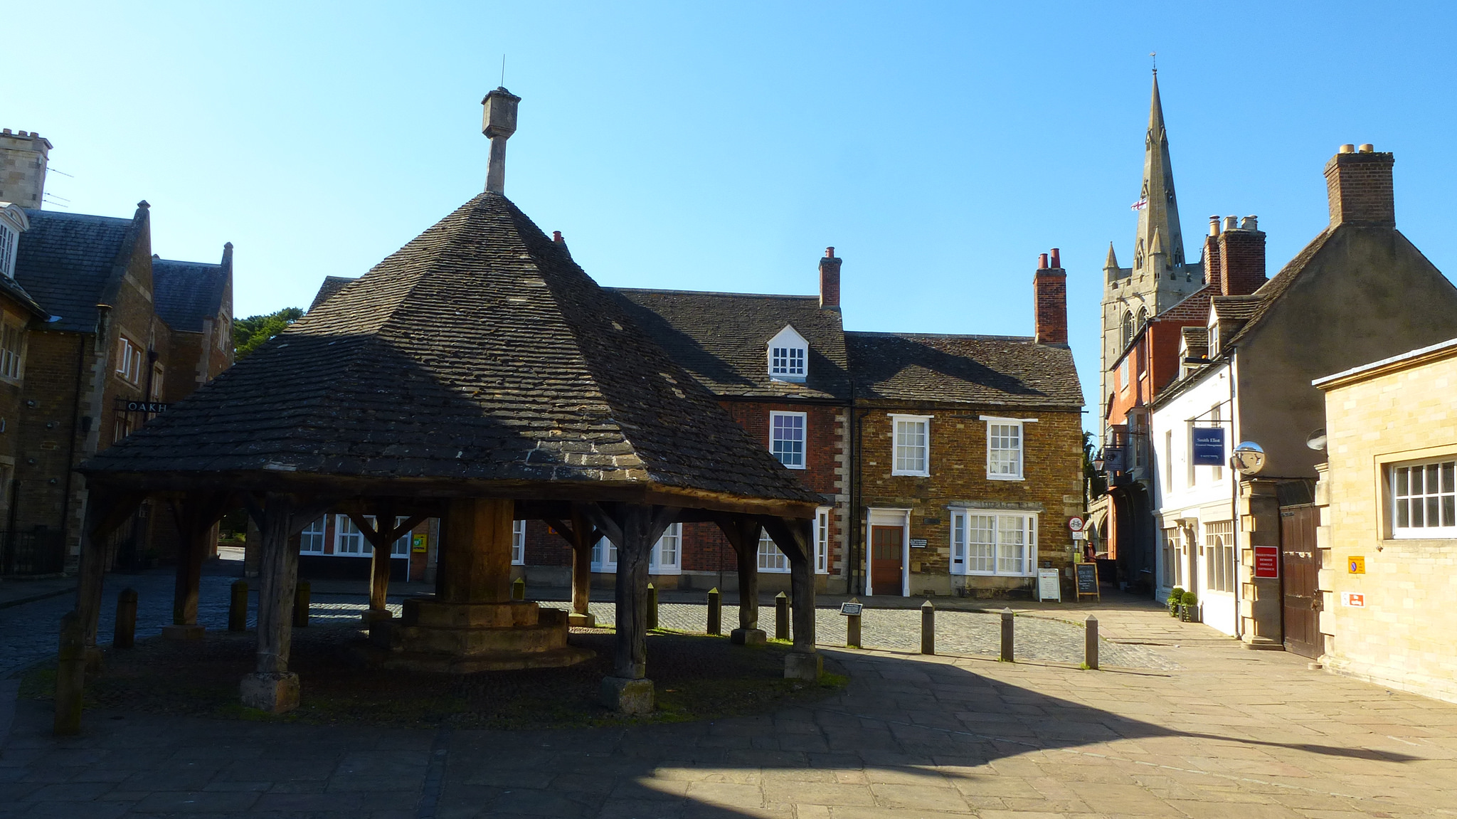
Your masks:
M1083 389L1056 255L1034 274L1034 337L845 334L864 593L1000 596L1039 567L1071 574Z

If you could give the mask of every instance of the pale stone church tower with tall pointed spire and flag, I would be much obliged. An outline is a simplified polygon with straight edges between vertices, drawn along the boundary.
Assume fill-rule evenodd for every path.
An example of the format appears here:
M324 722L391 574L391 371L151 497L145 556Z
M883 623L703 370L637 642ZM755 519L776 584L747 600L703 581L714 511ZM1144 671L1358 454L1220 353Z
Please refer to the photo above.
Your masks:
M1134 210L1138 211L1138 236L1134 242L1132 267L1118 267L1112 243L1103 265L1103 366L1097 399L1100 421L1107 411L1112 389L1109 367L1118 363L1138 329L1203 287L1202 265L1187 264L1185 259L1157 68L1148 106L1148 133L1144 136L1144 184Z

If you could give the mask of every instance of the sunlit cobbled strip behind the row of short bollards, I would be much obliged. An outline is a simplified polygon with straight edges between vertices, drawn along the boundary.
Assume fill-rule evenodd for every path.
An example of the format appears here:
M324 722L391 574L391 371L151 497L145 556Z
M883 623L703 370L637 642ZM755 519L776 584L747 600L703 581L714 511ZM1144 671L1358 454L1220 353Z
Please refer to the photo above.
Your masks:
M570 609L567 603L543 603ZM612 625L616 606L593 602L589 611L597 622ZM845 618L836 609L816 609L814 638L820 646L845 644ZM695 603L660 603L657 622L663 628L702 632L708 628L708 606ZM739 625L739 606L723 608L723 630L727 634ZM774 635L774 606L759 608L759 628ZM865 609L860 624L860 641L865 648L921 651L921 612L918 609ZM1053 663L1083 662L1084 627L1077 622L1048 616L1017 616L1014 648L1017 659ZM1001 654L1001 615L982 612L937 612L935 650L940 654L997 657ZM1099 643L1099 665L1128 669L1179 667L1150 647Z

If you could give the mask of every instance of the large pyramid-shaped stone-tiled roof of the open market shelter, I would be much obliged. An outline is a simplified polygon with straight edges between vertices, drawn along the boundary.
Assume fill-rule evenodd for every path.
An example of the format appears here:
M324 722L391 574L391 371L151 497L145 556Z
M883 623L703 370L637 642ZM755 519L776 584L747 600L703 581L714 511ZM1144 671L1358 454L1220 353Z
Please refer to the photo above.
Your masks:
M491 481L523 497L552 481L558 497L615 484L819 503L562 248L490 192L85 469L143 481Z

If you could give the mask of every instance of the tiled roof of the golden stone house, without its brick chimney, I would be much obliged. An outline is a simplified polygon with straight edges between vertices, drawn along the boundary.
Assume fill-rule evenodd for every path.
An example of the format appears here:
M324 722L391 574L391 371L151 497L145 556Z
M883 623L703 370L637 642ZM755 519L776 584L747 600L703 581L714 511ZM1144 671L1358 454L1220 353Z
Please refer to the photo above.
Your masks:
M864 399L1083 407L1072 351L1007 335L847 332Z

